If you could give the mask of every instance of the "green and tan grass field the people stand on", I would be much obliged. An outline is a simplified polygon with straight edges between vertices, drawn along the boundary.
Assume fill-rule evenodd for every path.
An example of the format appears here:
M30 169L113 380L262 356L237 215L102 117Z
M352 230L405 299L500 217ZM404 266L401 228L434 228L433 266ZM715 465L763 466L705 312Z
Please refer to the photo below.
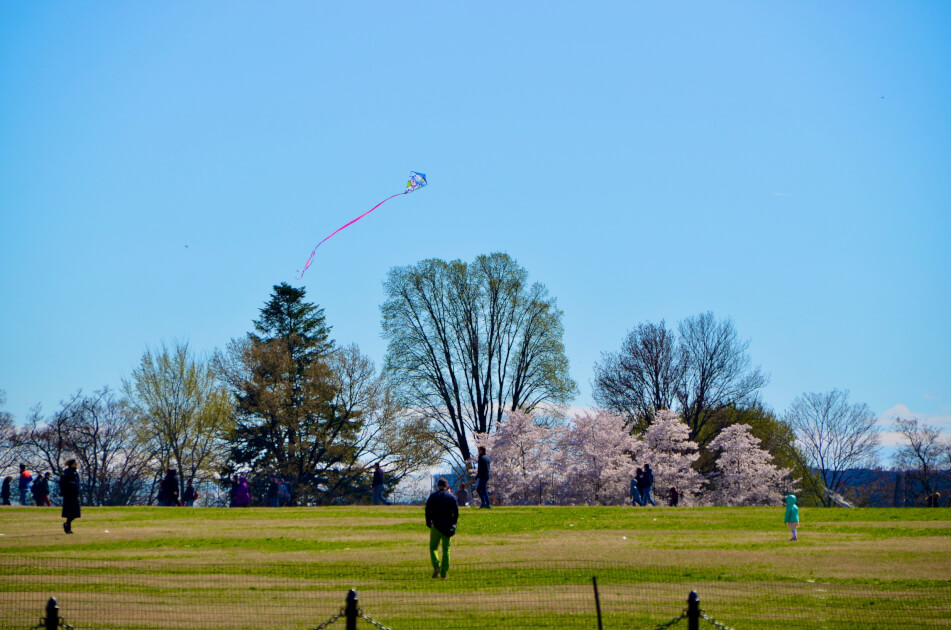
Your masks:
M656 628L691 590L737 629L951 628L951 510L804 508L796 543L782 516L466 509L433 580L421 507L83 508L72 536L56 509L8 507L0 628L50 596L79 630L314 628L350 588L394 630L596 628L593 576L605 628Z

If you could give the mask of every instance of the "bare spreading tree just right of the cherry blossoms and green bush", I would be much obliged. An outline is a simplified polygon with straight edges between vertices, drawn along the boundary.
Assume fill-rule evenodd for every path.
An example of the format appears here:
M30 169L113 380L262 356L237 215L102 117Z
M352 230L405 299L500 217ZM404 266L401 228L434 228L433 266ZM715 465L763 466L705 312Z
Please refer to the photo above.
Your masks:
M797 396L784 420L796 433L805 465L818 472L818 478L803 478L803 488L822 505L834 502L829 490L844 494L850 471L871 468L878 459L875 414L865 403L850 404L848 391Z

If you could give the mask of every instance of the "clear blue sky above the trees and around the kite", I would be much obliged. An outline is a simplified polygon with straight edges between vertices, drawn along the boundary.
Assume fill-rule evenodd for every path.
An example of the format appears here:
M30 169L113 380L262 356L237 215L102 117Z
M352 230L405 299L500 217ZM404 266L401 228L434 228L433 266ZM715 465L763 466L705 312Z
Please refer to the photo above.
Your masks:
M951 430L949 34L947 2L3 3L6 409L221 348L284 281L379 366L388 269L504 251L576 405L710 310L778 412Z

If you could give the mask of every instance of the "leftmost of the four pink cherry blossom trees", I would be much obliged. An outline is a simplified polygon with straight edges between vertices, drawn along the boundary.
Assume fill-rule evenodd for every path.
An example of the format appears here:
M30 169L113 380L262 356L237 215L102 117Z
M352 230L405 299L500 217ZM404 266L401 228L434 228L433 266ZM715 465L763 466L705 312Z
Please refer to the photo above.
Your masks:
M547 428L532 415L512 411L498 431L476 435L492 458L492 495L507 505L551 502L561 479L555 474L555 452L561 429Z

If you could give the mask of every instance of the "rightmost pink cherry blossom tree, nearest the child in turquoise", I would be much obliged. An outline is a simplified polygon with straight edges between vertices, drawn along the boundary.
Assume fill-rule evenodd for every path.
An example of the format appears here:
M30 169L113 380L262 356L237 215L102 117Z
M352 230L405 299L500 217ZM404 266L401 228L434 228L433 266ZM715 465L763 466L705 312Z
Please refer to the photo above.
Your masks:
M708 449L720 452L710 477L712 492L706 495L713 505L781 505L793 489L790 470L777 468L773 457L761 449L760 439L748 424L733 424L715 437Z

